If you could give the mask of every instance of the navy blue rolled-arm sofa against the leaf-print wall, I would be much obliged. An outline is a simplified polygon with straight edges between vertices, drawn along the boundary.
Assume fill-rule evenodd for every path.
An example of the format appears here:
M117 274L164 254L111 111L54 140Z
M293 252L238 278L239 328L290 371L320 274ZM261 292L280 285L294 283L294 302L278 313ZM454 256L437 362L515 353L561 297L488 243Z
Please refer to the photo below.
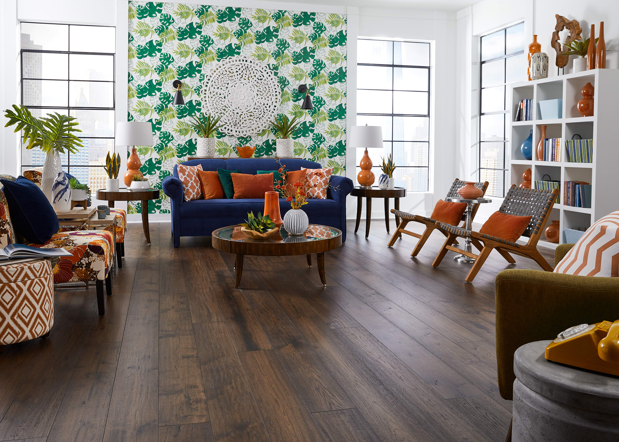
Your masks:
M301 170L322 168L301 158L285 158L282 164L286 170ZM184 165L202 165L202 170L216 171L218 168L240 170L241 173L255 175L258 170L277 170L279 165L274 158L214 158L205 160L190 160ZM339 186L337 191L329 188L327 199L308 199L303 206L308 214L309 222L328 225L342 230L342 241L346 240L346 196L352 191L353 182L345 176L331 175L331 184ZM174 246L181 244L181 236L210 236L220 227L235 225L247 218L248 212L262 212L264 198L261 199L196 199L184 201L183 184L178 179L178 171L174 166L173 175L167 176L162 182L163 192L170 197L172 210L172 237ZM279 207L284 217L290 210L290 203L284 198L279 199Z

